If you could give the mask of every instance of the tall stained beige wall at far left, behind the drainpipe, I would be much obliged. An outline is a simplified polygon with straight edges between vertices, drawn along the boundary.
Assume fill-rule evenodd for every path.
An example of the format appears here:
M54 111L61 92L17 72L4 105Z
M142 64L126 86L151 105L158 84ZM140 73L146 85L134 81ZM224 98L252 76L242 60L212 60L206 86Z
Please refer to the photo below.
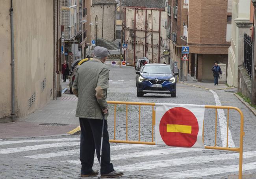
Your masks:
M1 113L0 118L10 115L11 109L11 49L10 49L10 1L4 0L0 7L0 54L4 63L0 66ZM52 98L53 88L53 1L15 0L14 50L15 50L15 98L16 115L25 116L43 107ZM41 83L46 78L45 89ZM52 89L53 90L53 89ZM35 92L33 105L28 100Z

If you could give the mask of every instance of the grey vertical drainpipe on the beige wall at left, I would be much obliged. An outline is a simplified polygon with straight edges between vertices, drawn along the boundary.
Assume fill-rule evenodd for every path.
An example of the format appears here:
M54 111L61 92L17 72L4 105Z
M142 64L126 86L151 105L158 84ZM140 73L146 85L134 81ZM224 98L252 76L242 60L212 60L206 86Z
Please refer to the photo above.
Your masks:
M15 81L14 81L14 35L13 35L13 0L10 8L11 17L11 121L15 121Z

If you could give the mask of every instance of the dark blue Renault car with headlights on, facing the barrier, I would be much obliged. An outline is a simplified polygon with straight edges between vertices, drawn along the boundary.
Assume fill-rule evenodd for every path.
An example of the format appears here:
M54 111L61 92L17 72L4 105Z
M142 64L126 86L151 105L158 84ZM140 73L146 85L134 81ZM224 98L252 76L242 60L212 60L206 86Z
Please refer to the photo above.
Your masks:
M146 93L171 94L176 97L176 78L171 66L163 64L147 64L137 80L137 96L141 97Z

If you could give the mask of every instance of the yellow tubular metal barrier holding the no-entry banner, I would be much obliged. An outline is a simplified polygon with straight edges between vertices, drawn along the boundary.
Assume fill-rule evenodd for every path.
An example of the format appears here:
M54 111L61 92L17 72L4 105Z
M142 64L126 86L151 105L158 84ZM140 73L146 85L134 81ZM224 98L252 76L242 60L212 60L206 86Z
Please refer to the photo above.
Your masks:
M154 125L156 124L156 111L154 107L156 103L141 103L141 102L126 102L126 101L108 101L108 104L114 105L114 139L109 140L109 142L114 143L127 143L127 144L148 144L148 145L156 145L154 142ZM116 107L117 105L126 105L126 140L116 140ZM137 141L128 140L128 105L137 105L139 106L139 137ZM141 128L141 106L152 106L152 140L151 142L143 142L140 140L140 128ZM243 136L245 135L243 131L243 113L237 107L231 106L213 106L213 105L206 105L206 109L215 109L215 145L214 146L205 146L206 149L217 149L217 150L226 150L226 151L236 151L239 152L239 179L242 179L242 166L243 166ZM226 147L219 147L217 146L217 109L227 109L227 144ZM228 147L228 125L229 125L229 111L236 110L240 114L240 144L238 148L230 148ZM202 139L204 143L204 125L203 125L203 132L202 132Z

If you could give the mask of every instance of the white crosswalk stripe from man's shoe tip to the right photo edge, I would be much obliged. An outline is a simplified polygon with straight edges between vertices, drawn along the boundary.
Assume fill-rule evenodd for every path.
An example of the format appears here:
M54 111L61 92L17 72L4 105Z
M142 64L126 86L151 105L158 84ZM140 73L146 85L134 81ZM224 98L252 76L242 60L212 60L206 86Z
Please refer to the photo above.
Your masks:
M256 157L256 151L243 153L243 158L251 158L251 157ZM150 169L161 168L161 167L195 164L195 163L212 162L212 161L222 161L222 160L230 160L230 159L239 159L239 153L202 155L197 157L186 157L186 158L176 158L176 159L170 159L170 160L140 162L132 165L116 166L115 169L126 171L126 172L134 172L137 170L150 170Z

